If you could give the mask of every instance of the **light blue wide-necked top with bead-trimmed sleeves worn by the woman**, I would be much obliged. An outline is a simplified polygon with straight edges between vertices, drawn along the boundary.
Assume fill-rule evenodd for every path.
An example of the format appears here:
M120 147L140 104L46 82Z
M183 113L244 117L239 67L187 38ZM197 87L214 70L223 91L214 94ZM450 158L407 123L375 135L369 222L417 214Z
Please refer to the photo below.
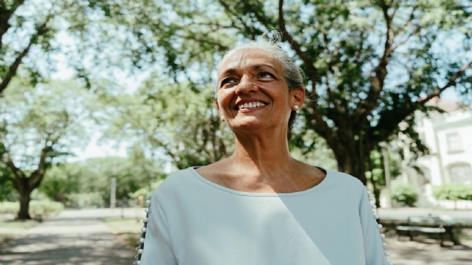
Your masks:
M248 193L194 168L152 195L141 265L387 265L367 190L327 171L294 193Z

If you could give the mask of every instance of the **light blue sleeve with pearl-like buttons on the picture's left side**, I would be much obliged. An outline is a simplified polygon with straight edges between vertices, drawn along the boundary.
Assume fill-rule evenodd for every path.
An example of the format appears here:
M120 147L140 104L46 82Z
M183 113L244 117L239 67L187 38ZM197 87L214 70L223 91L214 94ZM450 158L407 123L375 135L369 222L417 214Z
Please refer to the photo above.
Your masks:
M177 265L172 249L165 213L155 195L152 196L139 240L136 265Z

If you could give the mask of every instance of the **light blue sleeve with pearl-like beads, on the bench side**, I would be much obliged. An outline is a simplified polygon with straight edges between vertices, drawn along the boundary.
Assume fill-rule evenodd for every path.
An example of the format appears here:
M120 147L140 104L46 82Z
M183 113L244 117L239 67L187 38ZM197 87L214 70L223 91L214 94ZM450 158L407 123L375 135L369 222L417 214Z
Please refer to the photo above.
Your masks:
M382 241L385 235L379 231L382 225L377 223L378 216L373 212L376 207L370 203L371 198L369 191L363 189L359 215L364 237L366 265L393 265L392 262L387 261L389 253L384 250L387 244Z

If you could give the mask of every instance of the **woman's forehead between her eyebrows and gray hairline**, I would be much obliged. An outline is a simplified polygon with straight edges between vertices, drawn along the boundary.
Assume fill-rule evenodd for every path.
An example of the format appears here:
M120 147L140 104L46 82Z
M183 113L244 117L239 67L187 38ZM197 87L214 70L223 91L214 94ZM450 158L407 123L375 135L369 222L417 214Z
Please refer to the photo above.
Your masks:
M272 67L278 74L283 73L280 62L271 54L258 49L243 49L226 56L218 67L218 77L225 72L234 72L252 67Z

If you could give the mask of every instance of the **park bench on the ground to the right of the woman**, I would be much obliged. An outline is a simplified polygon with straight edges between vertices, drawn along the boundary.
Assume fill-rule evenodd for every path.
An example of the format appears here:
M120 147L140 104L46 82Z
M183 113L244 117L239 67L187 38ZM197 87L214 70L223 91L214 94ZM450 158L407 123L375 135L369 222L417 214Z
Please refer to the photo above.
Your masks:
M455 222L452 218L438 215L425 215L425 216L409 216L407 224L396 226L396 232L398 240L402 235L407 235L410 240L413 240L413 236L417 233L425 234L438 234L440 236L440 244L444 246L444 234L449 235L451 242L454 245L460 244L455 239L453 234Z

